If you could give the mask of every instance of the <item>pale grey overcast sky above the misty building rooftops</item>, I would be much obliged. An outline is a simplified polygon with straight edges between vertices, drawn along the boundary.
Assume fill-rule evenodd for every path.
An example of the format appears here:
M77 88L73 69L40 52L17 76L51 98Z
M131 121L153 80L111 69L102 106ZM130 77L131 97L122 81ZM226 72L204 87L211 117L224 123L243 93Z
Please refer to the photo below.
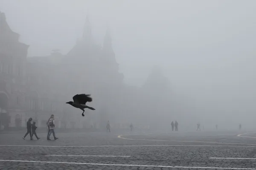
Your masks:
M0 0L29 56L66 54L89 14L96 43L111 28L125 82L142 85L157 64L174 91L239 113L256 111L255 9L255 0Z

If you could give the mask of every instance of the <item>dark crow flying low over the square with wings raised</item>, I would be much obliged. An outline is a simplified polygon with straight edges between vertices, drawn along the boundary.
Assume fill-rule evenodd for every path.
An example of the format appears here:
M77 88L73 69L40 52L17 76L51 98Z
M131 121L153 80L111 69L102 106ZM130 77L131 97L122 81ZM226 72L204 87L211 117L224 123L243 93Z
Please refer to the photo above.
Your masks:
M84 116L84 108L88 108L90 110L95 110L95 108L91 108L86 105L86 102L91 102L93 99L90 97L90 94L76 94L73 96L74 102L70 101L67 104L74 106L75 108L79 108L83 111L82 116Z

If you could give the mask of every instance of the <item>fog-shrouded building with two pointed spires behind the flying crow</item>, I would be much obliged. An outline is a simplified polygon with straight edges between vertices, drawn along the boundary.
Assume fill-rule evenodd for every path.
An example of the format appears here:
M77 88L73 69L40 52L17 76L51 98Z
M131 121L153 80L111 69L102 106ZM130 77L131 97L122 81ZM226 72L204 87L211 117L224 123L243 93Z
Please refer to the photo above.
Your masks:
M58 127L100 127L118 112L118 95L121 95L123 74L115 59L109 30L106 31L103 47L93 42L90 22L87 17L84 33L66 55L58 51L46 57L27 59L27 79L30 87L31 110L27 114L38 119L44 126L50 114L55 114ZM67 105L75 94L92 94L88 105L96 111L86 110L81 119L81 110Z

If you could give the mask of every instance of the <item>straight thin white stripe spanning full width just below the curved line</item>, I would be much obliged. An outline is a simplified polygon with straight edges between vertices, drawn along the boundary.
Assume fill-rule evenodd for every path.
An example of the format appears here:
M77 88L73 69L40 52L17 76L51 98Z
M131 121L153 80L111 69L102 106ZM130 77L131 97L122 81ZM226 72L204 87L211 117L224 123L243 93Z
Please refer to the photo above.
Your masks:
M46 146L46 145L10 145L2 144L3 147L256 147L236 145L183 145L183 144L148 144L148 145L88 145L88 146Z

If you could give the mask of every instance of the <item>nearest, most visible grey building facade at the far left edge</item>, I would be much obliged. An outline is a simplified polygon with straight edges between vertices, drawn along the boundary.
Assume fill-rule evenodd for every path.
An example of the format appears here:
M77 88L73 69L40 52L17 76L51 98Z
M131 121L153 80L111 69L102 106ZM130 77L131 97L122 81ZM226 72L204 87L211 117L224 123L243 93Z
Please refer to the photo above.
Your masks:
M26 57L29 45L19 42L0 12L0 127L26 123Z

